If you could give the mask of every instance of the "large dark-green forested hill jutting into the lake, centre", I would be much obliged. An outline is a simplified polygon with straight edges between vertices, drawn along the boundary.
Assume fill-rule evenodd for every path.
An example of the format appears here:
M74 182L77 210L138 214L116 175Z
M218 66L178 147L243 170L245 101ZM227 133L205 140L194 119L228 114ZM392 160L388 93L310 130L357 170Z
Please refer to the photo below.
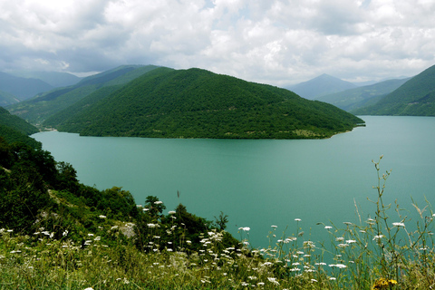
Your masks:
M145 73L65 116L53 124L60 131L155 138L326 138L363 123L285 89L200 69L168 68Z

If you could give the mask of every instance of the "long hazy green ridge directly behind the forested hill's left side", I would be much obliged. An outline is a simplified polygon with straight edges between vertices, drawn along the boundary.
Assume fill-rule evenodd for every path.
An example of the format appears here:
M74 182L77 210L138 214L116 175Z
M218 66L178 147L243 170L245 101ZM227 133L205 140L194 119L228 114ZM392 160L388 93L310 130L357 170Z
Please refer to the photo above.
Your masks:
M131 80L134 80L141 74L150 72L155 68L157 66L154 65L123 65L83 78L72 86L43 92L31 100L19 102L8 107L8 110L34 124L41 123L49 116L73 105L73 103L80 101L102 87L131 82Z

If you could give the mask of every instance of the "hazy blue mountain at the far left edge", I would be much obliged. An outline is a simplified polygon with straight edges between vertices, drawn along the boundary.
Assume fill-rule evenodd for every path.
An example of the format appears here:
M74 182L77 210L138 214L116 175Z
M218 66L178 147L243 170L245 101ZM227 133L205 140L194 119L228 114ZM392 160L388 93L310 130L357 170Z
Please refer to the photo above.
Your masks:
M20 100L32 98L35 94L52 90L53 86L36 79L26 79L0 72L0 91L9 92Z

